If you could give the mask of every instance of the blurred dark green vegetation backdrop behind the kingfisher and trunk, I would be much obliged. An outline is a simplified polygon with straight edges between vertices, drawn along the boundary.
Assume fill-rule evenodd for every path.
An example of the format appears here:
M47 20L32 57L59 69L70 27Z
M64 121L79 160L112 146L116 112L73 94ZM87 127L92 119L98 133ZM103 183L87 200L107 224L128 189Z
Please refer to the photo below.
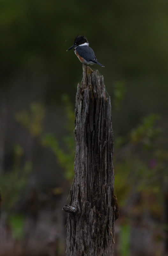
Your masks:
M166 0L0 0L1 256L65 255L77 34L112 101L115 256L168 255L167 30Z

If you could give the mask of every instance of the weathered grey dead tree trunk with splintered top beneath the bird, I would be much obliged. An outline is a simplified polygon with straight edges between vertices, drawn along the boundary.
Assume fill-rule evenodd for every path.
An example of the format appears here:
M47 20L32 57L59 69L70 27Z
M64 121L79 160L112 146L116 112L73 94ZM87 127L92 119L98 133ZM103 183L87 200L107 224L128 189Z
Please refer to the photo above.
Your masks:
M113 256L116 197L113 195L111 102L103 76L83 65L75 108L76 156L70 190L66 256Z

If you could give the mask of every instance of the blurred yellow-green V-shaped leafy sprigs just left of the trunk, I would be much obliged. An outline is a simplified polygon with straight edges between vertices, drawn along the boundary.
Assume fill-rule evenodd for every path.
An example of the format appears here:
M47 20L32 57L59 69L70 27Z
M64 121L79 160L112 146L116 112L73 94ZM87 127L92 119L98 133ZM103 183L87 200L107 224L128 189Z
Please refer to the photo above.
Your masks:
M64 170L64 177L70 182L73 178L74 169L74 151L75 151L75 139L74 139L74 111L70 103L69 97L66 94L62 95L62 101L64 103L64 112L66 119L66 130L68 135L63 136L62 142L65 144L66 149L62 149L59 146L58 138L54 134L45 134L43 132L43 122L45 118L45 108L40 103L33 103L28 109L23 109L19 113L15 114L16 120L28 130L33 137L39 139L39 143L43 147L50 148L56 159L58 160L60 167Z

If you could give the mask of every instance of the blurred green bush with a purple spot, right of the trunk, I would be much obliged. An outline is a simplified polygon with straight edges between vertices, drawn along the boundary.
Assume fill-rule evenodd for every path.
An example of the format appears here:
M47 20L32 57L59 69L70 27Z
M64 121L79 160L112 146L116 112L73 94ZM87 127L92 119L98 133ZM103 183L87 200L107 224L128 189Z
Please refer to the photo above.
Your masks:
M164 190L161 187L168 176L168 152L158 149L157 143L162 133L156 125L157 120L158 116L154 114L143 118L142 124L133 129L128 137L119 138L116 144L115 190L121 207L126 204L126 198L133 190L134 193L146 191L146 194L153 194L156 198L147 207L154 207L155 212L158 209L163 211Z

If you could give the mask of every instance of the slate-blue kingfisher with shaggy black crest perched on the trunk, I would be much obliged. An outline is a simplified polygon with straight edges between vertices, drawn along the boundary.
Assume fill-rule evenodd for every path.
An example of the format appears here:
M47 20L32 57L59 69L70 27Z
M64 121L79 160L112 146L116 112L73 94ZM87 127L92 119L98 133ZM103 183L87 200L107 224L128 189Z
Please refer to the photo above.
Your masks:
M85 36L79 36L74 40L74 45L72 45L67 51L74 48L74 52L77 55L78 59L85 64L98 64L101 67L104 67L102 64L98 62L95 57L95 54L91 47L89 47L88 40Z

